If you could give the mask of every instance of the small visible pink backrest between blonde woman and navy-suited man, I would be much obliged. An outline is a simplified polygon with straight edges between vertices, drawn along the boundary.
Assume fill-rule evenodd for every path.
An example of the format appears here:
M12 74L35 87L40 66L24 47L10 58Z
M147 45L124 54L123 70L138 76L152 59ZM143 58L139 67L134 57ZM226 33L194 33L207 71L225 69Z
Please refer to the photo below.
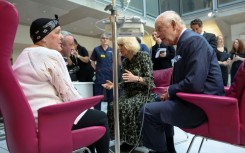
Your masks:
M173 68L154 70L153 77L156 87L166 87L170 85Z

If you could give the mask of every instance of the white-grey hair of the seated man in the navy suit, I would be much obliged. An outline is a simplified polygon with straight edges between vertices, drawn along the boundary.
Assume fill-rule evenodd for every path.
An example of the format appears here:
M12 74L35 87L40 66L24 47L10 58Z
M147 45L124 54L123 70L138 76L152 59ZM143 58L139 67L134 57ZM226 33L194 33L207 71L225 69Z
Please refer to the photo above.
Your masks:
M158 19L164 19L164 21L167 21L167 24L170 24L172 21L175 21L178 25L182 26L183 28L186 28L185 22L175 11L165 11L156 18L156 20Z

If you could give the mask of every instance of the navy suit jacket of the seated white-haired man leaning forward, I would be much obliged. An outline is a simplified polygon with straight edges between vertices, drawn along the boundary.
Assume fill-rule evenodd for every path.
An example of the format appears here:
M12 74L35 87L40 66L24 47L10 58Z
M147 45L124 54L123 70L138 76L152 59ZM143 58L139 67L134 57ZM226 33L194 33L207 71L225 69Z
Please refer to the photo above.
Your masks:
M168 92L224 95L224 86L216 53L203 36L185 30L177 43L173 77Z

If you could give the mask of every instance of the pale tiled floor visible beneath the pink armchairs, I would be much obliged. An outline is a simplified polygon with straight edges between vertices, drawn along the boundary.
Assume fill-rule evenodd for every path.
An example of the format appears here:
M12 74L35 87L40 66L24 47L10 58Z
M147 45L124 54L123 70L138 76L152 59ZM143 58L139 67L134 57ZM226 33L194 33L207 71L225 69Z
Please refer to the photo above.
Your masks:
M3 130L0 130L3 132ZM190 144L191 138L193 135L188 134L188 140L186 142L182 142L180 144L176 144L175 148L177 153L185 153L187 151L188 145ZM179 128L175 128L175 143L178 143L182 140L186 139L186 134L180 130ZM195 143L193 144L192 150L190 153L197 153L198 147L201 142L201 138L197 138ZM113 143L113 142L112 142ZM148 149L144 147L138 147L132 153L147 153ZM244 153L245 148L237 147L234 145L221 143L213 140L204 141L201 153ZM0 153L9 153L7 151L6 141L0 141Z

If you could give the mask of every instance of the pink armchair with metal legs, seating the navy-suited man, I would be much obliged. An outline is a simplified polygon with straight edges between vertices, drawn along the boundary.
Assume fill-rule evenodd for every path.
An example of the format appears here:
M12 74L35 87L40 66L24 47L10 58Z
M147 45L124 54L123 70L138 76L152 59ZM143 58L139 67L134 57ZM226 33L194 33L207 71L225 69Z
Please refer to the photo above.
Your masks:
M183 129L196 136L234 145L245 145L245 61L239 67L226 96L177 93L177 96L202 108L208 121L194 129ZM190 151L193 137L187 150ZM201 143L202 145L202 143ZM201 148L201 146L200 146ZM200 150L199 148L199 150Z

